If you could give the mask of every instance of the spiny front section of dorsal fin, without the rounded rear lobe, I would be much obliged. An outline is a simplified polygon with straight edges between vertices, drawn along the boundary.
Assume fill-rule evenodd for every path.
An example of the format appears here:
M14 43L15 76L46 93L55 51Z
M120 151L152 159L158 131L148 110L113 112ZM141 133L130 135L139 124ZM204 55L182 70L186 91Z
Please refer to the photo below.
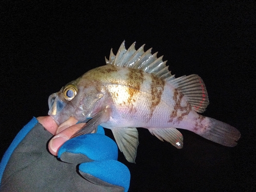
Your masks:
M152 55L152 48L144 52L145 45L142 45L136 50L136 42L134 42L130 48L126 50L124 42L125 41L122 42L116 55L111 49L109 60L105 58L106 65L140 69L146 73L153 73L165 80L172 80L175 78L174 75L170 74L168 66L166 66L167 61L162 60L163 56L158 58L157 52Z

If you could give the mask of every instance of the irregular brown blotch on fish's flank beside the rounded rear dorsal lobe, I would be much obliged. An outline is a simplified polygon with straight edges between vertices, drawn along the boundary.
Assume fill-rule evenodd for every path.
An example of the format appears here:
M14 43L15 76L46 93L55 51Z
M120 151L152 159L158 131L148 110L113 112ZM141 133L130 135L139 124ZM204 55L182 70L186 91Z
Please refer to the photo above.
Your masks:
M173 122L175 120L175 122L180 123L184 116L188 115L189 112L191 111L191 105L190 104L186 104L185 106L181 106L181 100L183 98L183 94L181 92L179 92L177 89L174 89L174 110L172 111L172 114L170 114L170 120L169 122ZM181 115L178 116L178 111L181 111Z

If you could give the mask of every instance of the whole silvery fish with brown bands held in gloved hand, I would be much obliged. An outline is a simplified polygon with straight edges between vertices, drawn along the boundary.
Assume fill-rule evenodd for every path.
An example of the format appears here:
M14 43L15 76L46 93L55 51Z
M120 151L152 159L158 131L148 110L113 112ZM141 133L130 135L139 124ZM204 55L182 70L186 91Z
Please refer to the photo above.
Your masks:
M94 68L50 95L49 115L59 125L69 117L86 124L72 137L89 134L98 125L111 129L129 162L135 163L136 127L148 129L161 141L183 147L177 129L194 132L210 141L233 147L241 134L233 126L201 115L209 104L203 80L196 74L176 78L151 49L128 49L122 42L111 49L106 65Z

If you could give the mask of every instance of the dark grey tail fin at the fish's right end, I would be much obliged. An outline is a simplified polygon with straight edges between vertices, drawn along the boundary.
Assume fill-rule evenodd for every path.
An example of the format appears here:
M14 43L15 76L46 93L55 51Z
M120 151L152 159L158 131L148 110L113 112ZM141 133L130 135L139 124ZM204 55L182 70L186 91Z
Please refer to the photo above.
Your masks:
M200 136L225 146L236 146L241 134L231 125L207 117L209 120L208 129L205 132L197 133Z

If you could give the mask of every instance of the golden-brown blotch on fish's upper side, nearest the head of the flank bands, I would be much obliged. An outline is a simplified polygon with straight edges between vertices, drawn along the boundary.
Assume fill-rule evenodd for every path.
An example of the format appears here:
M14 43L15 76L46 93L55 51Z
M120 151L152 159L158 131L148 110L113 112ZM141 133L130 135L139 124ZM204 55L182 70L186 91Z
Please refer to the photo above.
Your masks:
M127 74L127 85L129 98L127 102L133 104L135 102L134 96L140 92L140 86L144 81L143 71L127 68L129 73Z

